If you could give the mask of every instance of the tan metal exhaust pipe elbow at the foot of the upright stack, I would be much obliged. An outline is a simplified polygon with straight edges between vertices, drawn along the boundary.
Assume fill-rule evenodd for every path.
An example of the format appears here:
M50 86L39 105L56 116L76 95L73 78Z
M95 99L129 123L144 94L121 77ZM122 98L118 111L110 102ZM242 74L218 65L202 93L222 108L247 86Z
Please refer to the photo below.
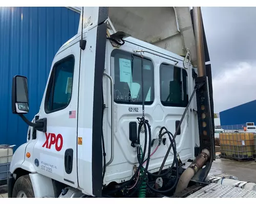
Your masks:
M205 163L209 158L210 158L209 150L203 149L201 154L181 174L180 180L175 190L175 194L187 188L189 181L199 171L199 169L201 169L205 165Z

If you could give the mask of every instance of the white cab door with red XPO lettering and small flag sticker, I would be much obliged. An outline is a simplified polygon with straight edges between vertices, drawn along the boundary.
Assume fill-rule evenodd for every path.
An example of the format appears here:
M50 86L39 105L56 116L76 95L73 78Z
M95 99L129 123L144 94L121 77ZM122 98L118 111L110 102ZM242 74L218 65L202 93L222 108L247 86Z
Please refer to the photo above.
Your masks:
M55 56L38 119L47 118L47 132L38 132L33 148L33 165L47 177L78 186L77 98L79 41Z

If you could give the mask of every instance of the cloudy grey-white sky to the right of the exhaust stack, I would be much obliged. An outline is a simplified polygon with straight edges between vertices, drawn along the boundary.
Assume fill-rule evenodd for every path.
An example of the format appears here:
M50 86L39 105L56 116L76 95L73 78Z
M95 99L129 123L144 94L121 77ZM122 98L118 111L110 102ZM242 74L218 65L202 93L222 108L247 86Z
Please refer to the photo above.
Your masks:
M256 99L256 7L201 7L215 112Z

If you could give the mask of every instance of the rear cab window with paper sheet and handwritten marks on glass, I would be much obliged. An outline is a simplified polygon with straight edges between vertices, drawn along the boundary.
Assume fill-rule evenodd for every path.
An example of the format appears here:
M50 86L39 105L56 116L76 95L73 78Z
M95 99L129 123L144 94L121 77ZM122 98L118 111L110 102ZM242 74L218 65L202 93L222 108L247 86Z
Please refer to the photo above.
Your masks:
M141 67L144 75L144 101L154 101L154 65L151 60L115 49L111 54L114 61L114 97L119 104L142 104ZM142 64L141 64L142 63Z

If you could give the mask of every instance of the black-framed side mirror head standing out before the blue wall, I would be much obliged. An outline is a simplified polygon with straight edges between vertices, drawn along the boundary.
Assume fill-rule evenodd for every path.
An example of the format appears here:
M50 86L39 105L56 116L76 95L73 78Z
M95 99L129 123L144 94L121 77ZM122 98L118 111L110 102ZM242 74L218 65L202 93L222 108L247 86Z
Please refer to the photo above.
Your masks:
M25 114L29 112L28 79L16 75L12 79L12 113Z

